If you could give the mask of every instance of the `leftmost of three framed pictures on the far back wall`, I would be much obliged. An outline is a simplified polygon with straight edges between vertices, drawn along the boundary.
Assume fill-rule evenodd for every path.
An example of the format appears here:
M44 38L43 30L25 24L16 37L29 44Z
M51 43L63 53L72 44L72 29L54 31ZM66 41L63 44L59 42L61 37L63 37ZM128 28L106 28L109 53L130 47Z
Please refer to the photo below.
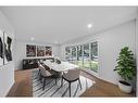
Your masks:
M26 56L36 56L36 46L26 44Z

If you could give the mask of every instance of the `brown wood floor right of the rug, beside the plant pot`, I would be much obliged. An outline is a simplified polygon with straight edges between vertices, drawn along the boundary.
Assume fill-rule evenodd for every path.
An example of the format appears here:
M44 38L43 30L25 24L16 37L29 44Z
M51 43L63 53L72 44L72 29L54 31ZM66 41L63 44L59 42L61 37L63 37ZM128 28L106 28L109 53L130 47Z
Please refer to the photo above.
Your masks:
M85 93L83 93L80 96L135 96L135 93L126 94L123 93L116 85L110 83L108 81L101 80L88 73L81 73L84 76L88 77L89 79L92 79L96 81L96 83L89 88Z

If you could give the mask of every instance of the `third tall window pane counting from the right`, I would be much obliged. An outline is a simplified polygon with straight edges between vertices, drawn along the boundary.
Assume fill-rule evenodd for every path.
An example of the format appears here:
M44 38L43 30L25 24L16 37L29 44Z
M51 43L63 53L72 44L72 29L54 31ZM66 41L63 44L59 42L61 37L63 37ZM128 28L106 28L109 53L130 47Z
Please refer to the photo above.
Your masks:
M77 62L76 64L79 67L83 67L83 46L77 47Z

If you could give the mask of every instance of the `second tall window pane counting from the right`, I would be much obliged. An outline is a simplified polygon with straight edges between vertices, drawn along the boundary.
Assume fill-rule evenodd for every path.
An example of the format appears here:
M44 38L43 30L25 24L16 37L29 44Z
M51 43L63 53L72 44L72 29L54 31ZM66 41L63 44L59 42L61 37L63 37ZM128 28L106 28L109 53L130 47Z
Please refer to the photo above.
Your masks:
M89 43L84 44L84 67L90 68L90 62L89 62Z

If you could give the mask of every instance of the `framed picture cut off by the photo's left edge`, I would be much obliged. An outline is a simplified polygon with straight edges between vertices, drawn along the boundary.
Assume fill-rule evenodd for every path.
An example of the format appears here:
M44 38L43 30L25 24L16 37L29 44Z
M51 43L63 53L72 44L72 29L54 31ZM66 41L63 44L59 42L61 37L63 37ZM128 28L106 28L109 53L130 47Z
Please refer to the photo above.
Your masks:
M3 65L3 31L0 30L0 66Z

